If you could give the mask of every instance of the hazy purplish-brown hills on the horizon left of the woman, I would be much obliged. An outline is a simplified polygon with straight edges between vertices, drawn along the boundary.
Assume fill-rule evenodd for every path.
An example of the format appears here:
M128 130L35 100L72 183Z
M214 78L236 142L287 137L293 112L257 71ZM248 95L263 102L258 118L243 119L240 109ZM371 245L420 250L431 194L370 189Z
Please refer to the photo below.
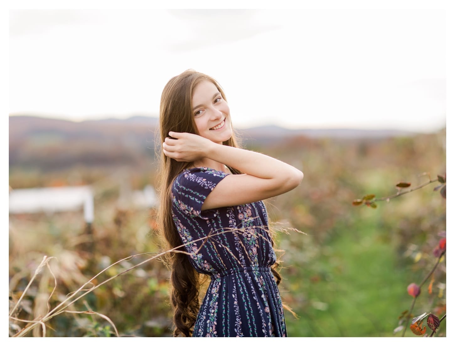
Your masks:
M157 119L132 117L71 122L40 117L9 118L12 168L144 166L154 157Z

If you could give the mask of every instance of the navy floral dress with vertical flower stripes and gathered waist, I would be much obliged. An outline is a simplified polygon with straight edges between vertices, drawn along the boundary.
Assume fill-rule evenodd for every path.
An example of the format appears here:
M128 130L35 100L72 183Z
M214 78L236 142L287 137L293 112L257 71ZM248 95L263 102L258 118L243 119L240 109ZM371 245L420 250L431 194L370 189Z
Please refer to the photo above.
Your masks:
M286 336L263 202L201 211L226 175L191 168L172 184L172 216L182 243L194 268L212 279L193 336ZM207 235L205 242L197 240Z

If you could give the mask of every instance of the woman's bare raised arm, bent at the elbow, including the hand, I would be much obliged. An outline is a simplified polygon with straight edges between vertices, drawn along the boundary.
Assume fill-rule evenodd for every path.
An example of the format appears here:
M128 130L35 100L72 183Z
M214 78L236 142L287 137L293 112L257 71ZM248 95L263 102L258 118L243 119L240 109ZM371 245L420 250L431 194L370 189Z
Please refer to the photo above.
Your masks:
M296 188L303 173L287 163L267 155L217 144L207 138L170 132L163 152L177 161L193 162L208 158L244 174L230 174L222 179L202 204L202 210L242 205L278 196Z

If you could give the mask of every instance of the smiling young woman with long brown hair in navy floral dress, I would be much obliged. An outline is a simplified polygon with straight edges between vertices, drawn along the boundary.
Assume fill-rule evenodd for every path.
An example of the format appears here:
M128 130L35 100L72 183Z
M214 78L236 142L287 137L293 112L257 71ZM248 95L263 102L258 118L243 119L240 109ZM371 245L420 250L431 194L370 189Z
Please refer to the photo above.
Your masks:
M184 245L169 259L174 336L286 336L262 199L303 173L238 148L222 88L193 70L164 87L160 132L160 224L171 248ZM202 304L200 274L211 277Z

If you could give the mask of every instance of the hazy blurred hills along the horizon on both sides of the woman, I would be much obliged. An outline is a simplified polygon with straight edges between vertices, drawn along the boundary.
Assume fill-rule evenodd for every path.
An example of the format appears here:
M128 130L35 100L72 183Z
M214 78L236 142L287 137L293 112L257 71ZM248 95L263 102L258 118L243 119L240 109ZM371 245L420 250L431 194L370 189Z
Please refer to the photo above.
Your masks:
M72 122L33 116L9 117L9 163L44 170L74 165L150 165L154 158L157 117L137 115ZM247 145L270 145L292 137L379 139L414 133L353 129L285 129L261 126L238 129Z

